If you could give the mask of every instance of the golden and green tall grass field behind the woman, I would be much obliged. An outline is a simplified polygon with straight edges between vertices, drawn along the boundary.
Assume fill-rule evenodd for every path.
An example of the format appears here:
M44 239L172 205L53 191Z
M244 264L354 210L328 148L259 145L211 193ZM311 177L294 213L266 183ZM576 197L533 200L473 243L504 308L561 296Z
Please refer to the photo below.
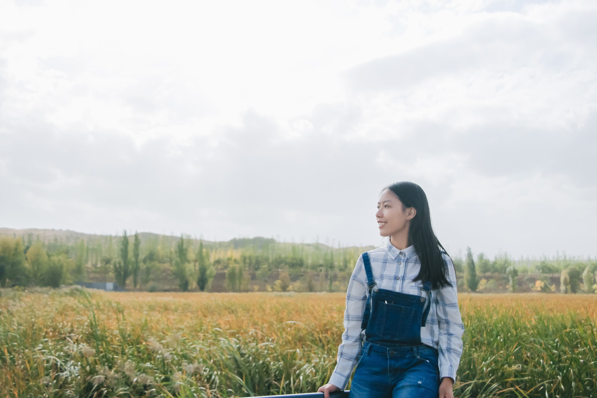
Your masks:
M340 293L1 293L0 397L313 392L344 330ZM459 300L455 396L597 396L597 295Z

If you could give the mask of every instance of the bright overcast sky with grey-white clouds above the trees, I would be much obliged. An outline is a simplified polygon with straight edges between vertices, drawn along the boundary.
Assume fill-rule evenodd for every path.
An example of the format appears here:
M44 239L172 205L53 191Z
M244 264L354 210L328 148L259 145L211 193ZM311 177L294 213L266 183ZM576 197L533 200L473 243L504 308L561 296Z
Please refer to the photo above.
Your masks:
M597 255L597 2L0 0L0 227Z

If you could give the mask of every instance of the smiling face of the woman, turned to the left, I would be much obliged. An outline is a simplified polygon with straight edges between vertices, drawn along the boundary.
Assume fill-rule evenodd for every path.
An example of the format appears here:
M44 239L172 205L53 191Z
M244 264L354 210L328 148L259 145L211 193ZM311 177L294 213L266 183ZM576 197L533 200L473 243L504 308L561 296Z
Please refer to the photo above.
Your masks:
M405 208L402 211L402 202L396 198L396 195L389 189L384 189L377 202L377 224L379 235L392 236L397 235L407 228L410 220L416 214L413 207Z

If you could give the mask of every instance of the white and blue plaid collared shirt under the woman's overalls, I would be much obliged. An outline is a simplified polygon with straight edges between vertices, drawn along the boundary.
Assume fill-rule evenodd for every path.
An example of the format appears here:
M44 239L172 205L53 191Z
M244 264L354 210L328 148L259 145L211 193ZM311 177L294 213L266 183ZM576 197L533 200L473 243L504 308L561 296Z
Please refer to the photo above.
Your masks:
M368 253L378 288L421 295L422 282L420 280L413 282L421 266L414 246L399 250L388 239L385 246ZM429 309L427 323L421 327L421 343L439 351L440 377L451 377L456 380L456 371L462 355L461 337L464 325L458 308L454 265L450 257L445 254L442 256L448 264L448 280L452 286L432 291L432 306ZM346 387L361 352L362 338L365 335L364 329L361 329L361 320L368 295L367 275L361 255L356 261L355 270L348 283L344 333L342 343L338 347L336 369L330 378L331 384L342 389Z

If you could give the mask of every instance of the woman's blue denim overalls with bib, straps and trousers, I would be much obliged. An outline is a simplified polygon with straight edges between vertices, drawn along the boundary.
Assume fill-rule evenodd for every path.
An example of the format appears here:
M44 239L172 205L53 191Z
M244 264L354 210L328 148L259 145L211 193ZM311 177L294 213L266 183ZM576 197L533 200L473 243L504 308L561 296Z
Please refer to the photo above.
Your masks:
M369 297L365 329L350 398L435 398L439 391L438 350L421 344L431 306L431 283L423 295L378 289L367 252L362 254Z

